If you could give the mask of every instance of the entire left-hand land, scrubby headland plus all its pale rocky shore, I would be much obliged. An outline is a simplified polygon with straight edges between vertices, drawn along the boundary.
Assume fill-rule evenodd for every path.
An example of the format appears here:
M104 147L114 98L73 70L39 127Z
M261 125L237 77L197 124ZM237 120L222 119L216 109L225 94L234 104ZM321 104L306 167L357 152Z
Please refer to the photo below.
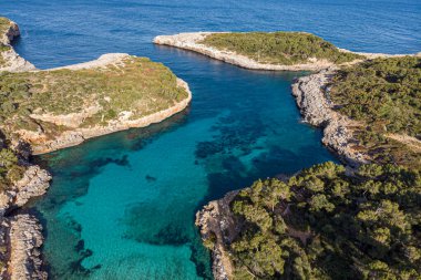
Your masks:
M162 122L185 110L192 93L163 64L124 53L38 70L11 45L18 24L0 18L0 278L48 279L42 226L17 211L51 180L31 155Z

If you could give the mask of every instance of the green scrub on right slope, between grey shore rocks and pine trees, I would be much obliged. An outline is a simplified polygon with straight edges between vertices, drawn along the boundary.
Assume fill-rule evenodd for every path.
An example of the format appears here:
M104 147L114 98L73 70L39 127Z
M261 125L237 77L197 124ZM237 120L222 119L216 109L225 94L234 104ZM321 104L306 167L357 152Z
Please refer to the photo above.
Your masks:
M337 72L331 84L330 98L340 113L361 123L356 136L376 162L421 168L421 146L388 137L421 139L421 58L367 61Z

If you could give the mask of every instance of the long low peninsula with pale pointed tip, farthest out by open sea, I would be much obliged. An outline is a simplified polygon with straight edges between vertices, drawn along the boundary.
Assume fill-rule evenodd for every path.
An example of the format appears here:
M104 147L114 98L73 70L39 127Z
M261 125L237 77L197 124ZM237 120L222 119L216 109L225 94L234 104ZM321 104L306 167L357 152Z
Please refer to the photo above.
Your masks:
M366 59L402 56L350 52L306 32L193 32L158 35L153 41L240 68L269 71L319 71Z

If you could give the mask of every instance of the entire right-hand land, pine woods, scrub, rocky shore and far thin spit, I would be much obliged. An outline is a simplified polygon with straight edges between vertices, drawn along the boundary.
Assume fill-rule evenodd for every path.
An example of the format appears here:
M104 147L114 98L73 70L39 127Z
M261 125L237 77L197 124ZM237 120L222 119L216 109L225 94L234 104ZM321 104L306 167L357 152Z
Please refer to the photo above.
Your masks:
M421 276L420 53L353 53L302 32L154 42L246 69L316 71L294 82L292 95L345 164L257 180L198 211L215 279Z

